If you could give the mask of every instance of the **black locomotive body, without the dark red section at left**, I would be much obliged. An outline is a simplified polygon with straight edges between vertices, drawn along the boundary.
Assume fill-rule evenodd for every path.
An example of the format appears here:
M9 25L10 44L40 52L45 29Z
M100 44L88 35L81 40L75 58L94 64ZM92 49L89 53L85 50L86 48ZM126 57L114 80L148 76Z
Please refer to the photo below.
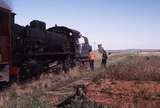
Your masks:
M80 56L78 31L61 26L46 30L45 23L37 20L26 27L14 24L13 29L12 58L20 67L20 79L38 77L50 64L68 71Z

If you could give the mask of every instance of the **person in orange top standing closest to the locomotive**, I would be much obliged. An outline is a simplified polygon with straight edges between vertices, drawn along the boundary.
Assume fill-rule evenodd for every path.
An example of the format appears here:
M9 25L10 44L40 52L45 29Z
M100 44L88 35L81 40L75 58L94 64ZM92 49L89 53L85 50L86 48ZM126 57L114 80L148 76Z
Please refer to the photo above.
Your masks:
M90 49L88 58L89 58L89 63L90 63L90 68L92 71L94 71L94 60L95 60L95 53Z

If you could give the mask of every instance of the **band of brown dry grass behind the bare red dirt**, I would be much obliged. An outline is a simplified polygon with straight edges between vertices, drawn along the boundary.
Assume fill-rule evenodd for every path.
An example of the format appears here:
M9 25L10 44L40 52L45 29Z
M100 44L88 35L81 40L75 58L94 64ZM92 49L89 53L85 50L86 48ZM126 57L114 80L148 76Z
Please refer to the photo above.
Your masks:
M109 65L107 75L117 80L160 81L160 57L128 56Z

